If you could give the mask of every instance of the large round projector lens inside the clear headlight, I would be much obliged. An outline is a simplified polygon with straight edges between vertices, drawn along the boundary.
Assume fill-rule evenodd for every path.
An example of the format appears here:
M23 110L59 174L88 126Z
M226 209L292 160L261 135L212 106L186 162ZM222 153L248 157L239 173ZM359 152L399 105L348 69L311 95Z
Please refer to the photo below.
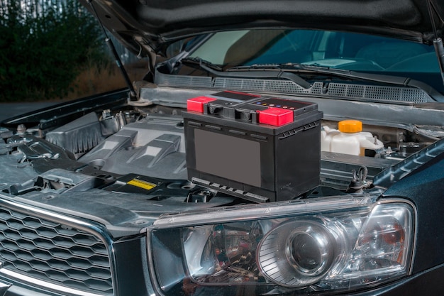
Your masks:
M265 234L257 248L262 274L285 287L316 283L340 252L330 231L316 220L288 221L277 226Z

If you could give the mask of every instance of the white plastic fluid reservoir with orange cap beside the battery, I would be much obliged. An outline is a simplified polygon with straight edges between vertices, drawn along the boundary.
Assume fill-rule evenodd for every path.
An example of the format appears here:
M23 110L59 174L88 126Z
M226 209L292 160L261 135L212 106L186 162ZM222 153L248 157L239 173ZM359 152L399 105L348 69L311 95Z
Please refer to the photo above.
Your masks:
M324 126L321 131L321 151L365 155L365 149L377 150L384 144L372 133L362 131L362 122L344 120L338 123L338 130Z

